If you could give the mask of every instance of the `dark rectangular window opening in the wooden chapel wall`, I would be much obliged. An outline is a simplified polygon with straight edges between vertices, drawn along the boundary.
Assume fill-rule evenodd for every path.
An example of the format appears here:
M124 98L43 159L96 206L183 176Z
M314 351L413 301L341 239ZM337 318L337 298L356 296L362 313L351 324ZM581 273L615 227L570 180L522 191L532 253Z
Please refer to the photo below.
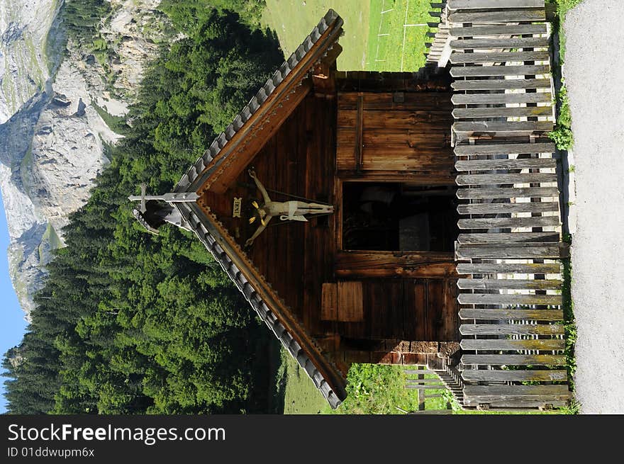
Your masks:
M342 188L342 249L455 249L459 230L454 186L347 182Z

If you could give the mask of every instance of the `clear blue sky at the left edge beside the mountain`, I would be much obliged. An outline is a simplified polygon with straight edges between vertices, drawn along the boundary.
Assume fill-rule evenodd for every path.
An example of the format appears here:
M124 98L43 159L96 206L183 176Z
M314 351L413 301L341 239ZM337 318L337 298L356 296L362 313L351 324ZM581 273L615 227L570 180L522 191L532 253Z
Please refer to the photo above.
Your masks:
M0 194L1 195L1 194ZM1 197L0 197L1 198ZM6 214L4 213L4 203L0 201L0 355L9 348L16 346L26 329L24 313L17 301L17 296L11 285L9 278L9 259L6 256L6 249L9 248L9 229L6 227ZM0 370L2 370L0 368ZM4 380L0 377L1 392L0 413L6 411L6 400L4 400Z

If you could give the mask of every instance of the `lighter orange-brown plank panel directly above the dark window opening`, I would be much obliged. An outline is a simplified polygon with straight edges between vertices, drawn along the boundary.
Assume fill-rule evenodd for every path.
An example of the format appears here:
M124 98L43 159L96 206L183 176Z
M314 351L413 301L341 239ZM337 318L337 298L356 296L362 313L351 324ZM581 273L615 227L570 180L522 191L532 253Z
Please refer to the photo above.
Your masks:
M337 169L430 171L447 173L452 182L451 110L444 92L341 92Z

